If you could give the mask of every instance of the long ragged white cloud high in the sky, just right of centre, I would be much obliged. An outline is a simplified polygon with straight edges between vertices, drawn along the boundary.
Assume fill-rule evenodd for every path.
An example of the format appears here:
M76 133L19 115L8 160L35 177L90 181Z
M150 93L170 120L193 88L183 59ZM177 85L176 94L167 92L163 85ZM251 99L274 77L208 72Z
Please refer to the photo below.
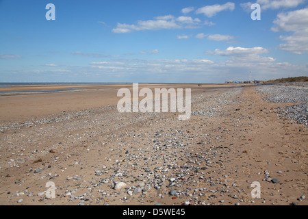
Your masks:
M141 30L196 28L201 25L199 18L192 18L190 16L179 16L175 18L172 15L166 15L157 16L155 20L137 21L136 25L117 23L116 28L112 29L112 31L116 34L123 34Z

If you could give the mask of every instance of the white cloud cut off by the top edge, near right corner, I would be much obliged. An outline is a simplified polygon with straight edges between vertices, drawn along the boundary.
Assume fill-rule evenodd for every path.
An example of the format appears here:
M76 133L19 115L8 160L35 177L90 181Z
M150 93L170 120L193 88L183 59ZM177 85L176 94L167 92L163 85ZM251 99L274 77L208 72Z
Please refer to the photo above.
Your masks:
M262 10L275 10L279 8L296 8L298 5L304 2L305 0L257 0L254 3L258 3ZM251 5L253 5L251 2L240 3L240 6L247 12L252 10Z

